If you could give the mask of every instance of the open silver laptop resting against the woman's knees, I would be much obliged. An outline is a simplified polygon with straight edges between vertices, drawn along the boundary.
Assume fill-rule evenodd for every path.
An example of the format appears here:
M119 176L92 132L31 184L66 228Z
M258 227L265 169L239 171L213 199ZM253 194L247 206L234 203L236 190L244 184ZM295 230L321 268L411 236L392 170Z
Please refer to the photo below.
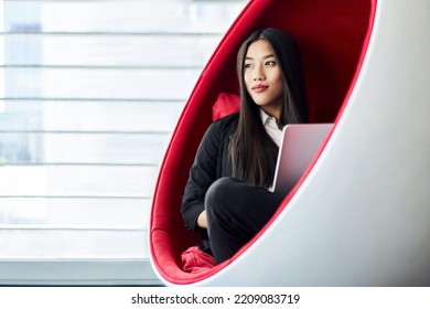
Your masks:
M271 191L287 195L321 148L333 124L283 127Z

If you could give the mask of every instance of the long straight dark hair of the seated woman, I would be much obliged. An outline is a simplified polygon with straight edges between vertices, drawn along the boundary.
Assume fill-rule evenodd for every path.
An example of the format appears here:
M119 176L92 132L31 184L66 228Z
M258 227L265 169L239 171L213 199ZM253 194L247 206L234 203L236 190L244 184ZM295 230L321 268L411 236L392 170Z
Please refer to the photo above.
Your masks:
M240 85L240 113L236 132L229 143L233 175L245 181L270 187L276 168L278 147L266 132L259 106L248 94L244 79L245 56L249 45L266 40L278 61L283 79L283 105L280 125L308 121L308 99L301 53L295 40L273 28L254 32L237 54L237 74Z

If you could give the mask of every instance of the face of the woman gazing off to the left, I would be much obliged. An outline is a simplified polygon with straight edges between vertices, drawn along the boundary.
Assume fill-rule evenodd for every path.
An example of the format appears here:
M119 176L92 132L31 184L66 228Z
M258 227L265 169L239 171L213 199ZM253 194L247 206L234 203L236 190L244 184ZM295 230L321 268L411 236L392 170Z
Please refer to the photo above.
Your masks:
M249 45L245 56L244 79L254 102L268 115L279 119L282 109L282 73L266 40Z

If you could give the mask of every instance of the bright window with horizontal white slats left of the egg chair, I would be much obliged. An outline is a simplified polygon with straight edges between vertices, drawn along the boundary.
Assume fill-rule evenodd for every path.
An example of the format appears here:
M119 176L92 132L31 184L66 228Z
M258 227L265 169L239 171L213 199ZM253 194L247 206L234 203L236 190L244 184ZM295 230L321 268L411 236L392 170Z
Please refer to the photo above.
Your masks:
M0 3L0 284L158 284L158 169L245 2Z

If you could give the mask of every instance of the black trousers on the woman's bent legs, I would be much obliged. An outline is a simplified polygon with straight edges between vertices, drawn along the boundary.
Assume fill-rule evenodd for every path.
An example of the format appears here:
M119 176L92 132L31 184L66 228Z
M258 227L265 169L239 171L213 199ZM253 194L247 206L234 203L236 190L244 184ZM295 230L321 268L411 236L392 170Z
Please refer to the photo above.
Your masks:
M277 211L283 195L235 178L222 178L205 198L208 236L217 264L249 242Z

